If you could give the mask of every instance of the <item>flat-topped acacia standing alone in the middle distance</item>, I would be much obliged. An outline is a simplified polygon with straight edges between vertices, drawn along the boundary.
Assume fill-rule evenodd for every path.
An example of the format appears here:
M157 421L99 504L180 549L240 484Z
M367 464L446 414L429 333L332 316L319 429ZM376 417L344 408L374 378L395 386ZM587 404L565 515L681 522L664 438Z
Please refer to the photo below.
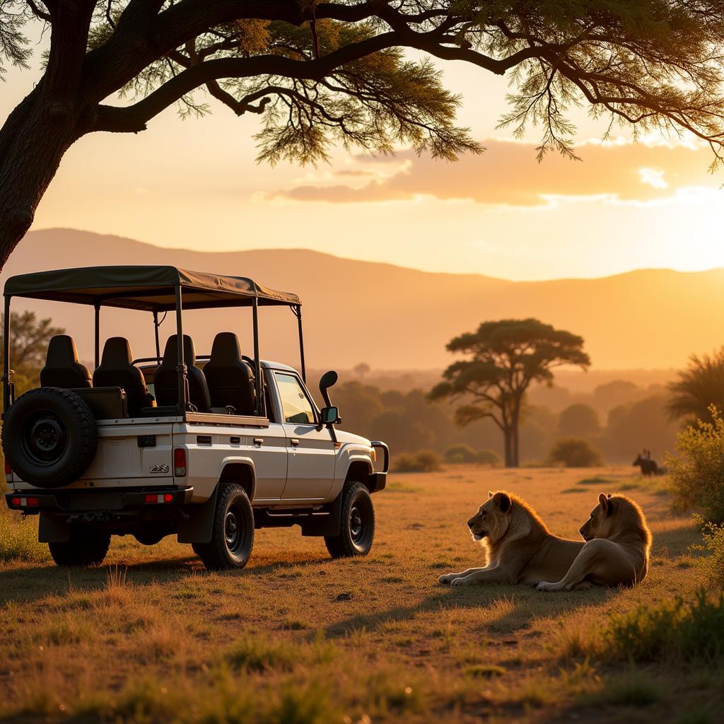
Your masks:
M505 466L517 468L518 426L531 382L552 383L552 369L575 365L586 369L591 360L583 337L554 329L537 319L485 321L476 332L461 334L447 345L449 352L470 355L450 365L444 381L433 387L432 400L463 400L455 411L458 424L490 418L505 442Z

